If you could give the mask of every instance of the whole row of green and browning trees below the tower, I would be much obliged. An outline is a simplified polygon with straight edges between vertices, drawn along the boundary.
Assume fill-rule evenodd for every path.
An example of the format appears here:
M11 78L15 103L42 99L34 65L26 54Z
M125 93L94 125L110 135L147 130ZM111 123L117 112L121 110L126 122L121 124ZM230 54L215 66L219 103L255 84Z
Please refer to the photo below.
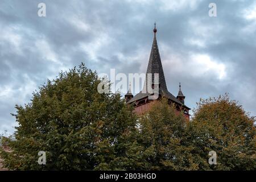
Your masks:
M22 170L255 170L255 118L228 96L201 100L191 121L166 98L139 117L119 93L98 93L81 64L16 106L19 126L2 137L4 166ZM104 80L104 79L103 79ZM46 165L38 164L45 151ZM208 163L209 152L217 164Z

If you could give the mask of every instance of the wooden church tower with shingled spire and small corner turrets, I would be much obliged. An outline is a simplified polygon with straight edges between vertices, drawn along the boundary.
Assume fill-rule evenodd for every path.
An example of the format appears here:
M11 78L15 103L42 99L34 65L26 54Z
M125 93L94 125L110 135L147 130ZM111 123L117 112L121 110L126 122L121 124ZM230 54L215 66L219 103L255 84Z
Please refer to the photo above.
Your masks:
M187 107L184 104L185 96L181 92L181 88L179 90L178 96L175 97L170 92L168 92L167 85L166 85L166 79L164 78L164 72L163 72L163 66L160 58L160 53L158 49L158 43L156 41L156 27L153 30L154 32L154 39L152 43L150 58L148 60L147 65L147 73L146 78L143 85L143 92L139 92L134 97L130 93L130 89L128 93L125 95L126 103L132 104L134 106L134 111L137 114L143 114L147 110L150 109L151 105L154 103L155 100L151 100L150 94L148 92L148 88L154 89L156 86L158 86L158 99L160 97L166 97L168 98L168 101L170 104L175 104L176 106L176 113L180 113L180 111L183 111L184 116L189 119L189 110L190 108ZM158 82L154 82L154 73L158 73ZM148 76L149 75L149 76Z

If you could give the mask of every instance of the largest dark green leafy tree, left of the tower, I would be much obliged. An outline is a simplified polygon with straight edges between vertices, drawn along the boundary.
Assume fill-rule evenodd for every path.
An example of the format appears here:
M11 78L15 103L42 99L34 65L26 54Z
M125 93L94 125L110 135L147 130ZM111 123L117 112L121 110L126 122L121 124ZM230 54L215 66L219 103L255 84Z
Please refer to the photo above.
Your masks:
M102 78L104 80L104 78ZM98 93L103 81L81 64L61 72L33 93L30 103L16 105L13 152L1 151L4 166L22 170L119 169L127 136L136 117L119 93ZM46 152L46 165L38 152Z

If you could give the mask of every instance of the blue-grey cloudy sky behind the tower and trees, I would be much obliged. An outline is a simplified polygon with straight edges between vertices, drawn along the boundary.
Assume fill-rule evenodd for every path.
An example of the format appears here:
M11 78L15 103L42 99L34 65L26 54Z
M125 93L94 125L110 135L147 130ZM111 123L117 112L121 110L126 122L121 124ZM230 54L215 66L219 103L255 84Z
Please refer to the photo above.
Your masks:
M38 4L46 4L46 17ZM217 17L209 17L209 3ZM1 0L0 133L14 131L15 104L61 70L146 72L154 22L168 90L185 104L228 92L256 115L256 1Z

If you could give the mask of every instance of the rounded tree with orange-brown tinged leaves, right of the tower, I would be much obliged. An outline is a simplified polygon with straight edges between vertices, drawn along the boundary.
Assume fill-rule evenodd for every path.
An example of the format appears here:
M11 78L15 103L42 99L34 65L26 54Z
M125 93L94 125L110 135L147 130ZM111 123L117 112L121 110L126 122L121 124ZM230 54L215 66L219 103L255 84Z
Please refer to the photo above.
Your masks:
M193 148L200 170L255 170L255 117L243 110L228 94L201 100L186 130L186 145ZM217 164L209 165L210 151Z

